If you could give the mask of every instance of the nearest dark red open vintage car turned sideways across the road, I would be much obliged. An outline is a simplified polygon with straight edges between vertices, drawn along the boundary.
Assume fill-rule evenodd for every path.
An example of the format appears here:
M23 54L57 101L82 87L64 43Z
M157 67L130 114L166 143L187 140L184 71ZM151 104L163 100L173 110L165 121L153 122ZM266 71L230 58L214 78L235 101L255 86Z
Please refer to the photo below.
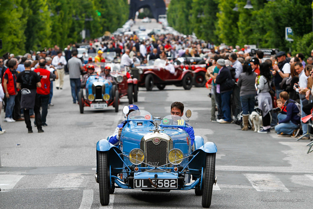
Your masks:
M193 73L191 70L182 69L179 65L173 65L172 73L167 70L166 61L161 59L149 60L148 66L137 66L128 69L132 78L137 78L138 86L146 87L151 91L156 85L163 90L166 85L183 86L189 90L192 87Z

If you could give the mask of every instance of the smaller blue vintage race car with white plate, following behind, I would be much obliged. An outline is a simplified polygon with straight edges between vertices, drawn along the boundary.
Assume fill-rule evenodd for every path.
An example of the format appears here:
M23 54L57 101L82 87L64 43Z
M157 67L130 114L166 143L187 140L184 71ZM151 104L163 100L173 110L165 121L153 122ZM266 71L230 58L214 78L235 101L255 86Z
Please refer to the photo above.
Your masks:
M97 75L89 76L85 87L86 98L84 97L83 89L80 89L78 94L80 113L84 113L84 107L90 107L93 110L103 110L109 106L113 106L115 112L118 112L120 93L116 85L103 77Z

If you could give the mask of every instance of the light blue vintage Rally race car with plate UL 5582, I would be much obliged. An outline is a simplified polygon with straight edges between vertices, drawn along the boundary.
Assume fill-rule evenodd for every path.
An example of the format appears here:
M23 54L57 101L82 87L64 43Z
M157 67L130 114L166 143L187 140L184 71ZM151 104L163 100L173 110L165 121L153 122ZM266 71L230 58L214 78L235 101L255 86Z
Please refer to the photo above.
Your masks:
M204 144L196 136L194 146L184 127L185 120L176 115L152 118L144 110L131 112L124 107L127 122L120 146L107 139L97 143L96 181L99 183L100 203L109 204L109 194L115 188L142 191L190 190L202 195L202 206L211 205L213 184L216 183L213 142ZM189 120L191 111L186 111Z

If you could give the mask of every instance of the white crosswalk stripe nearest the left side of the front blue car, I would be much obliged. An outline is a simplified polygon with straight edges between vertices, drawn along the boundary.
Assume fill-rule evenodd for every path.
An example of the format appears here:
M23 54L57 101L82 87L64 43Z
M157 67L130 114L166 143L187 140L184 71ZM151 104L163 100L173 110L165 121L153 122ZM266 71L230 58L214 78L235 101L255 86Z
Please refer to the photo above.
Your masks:
M48 188L73 188L80 187L84 181L84 175L81 173L58 174L48 185Z

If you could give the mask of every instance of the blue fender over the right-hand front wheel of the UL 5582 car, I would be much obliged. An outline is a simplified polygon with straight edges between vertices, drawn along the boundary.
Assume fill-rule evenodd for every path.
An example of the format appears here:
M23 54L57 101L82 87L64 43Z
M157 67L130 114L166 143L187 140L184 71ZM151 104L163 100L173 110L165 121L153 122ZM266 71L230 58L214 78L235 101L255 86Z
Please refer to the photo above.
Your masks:
M213 154L217 152L217 146L213 142L207 142L200 148L196 149L192 152L192 155L196 156L192 158L193 156L189 157L189 168L191 169L201 169L202 167L205 168L206 165L206 157L207 154ZM198 178L198 175L193 175Z

